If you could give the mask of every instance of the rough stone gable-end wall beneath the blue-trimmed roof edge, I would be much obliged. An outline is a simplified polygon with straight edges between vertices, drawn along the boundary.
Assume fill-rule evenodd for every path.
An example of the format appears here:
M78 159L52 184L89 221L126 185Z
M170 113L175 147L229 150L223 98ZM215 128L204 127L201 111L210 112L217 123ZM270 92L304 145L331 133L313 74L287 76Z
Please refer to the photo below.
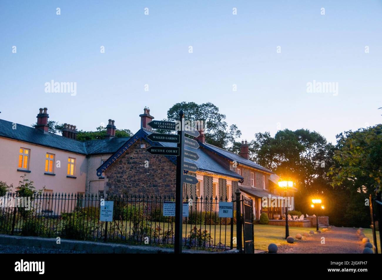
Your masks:
M141 148L141 144L146 147ZM164 155L145 151L150 144L136 141L105 170L105 191L110 194L173 194L175 195L176 165ZM145 160L149 167L144 167Z

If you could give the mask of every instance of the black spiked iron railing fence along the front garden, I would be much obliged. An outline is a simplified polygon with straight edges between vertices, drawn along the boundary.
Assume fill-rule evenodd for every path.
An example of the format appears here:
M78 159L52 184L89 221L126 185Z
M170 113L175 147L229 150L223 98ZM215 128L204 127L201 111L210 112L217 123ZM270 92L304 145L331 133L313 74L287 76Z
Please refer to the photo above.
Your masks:
M103 200L113 201L112 222L100 221ZM238 200L242 202L240 196L230 199ZM171 201L175 201L173 196L159 195L105 199L92 194L35 193L25 198L8 193L0 197L0 233L170 246L174 244L175 217L163 215L163 203ZM184 199L188 203L188 217L183 217L185 248L232 249L237 239L241 244L235 208L233 218L219 217L219 201L227 198Z

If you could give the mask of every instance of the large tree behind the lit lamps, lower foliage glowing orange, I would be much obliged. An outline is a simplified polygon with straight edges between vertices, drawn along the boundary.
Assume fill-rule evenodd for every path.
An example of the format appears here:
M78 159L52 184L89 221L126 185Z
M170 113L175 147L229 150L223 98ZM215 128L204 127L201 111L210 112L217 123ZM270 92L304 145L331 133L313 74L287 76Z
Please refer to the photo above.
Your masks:
M297 210L310 210L310 197L329 197L332 188L326 173L333 163L334 147L316 131L285 129L275 137L269 132L256 133L248 144L251 160L295 181Z

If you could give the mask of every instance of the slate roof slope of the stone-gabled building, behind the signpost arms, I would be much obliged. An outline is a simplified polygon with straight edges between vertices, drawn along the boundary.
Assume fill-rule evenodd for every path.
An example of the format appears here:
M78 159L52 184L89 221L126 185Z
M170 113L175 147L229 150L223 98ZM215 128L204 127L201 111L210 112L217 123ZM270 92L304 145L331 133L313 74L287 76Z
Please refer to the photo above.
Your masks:
M143 130L146 135L150 135L152 132ZM159 146L164 147L176 147L175 143L168 143L168 142L155 142L159 143ZM229 176L232 178L237 179L243 179L242 176L240 176L238 173L233 172L230 169L227 169L217 163L212 157L210 157L205 151L203 151L203 148L199 147L199 149L194 149L192 147L186 147L186 150L196 152L197 155L199 155L199 159L197 161L191 160L191 159L185 159L186 162L195 163L197 167L199 167L200 170L217 173L220 175Z

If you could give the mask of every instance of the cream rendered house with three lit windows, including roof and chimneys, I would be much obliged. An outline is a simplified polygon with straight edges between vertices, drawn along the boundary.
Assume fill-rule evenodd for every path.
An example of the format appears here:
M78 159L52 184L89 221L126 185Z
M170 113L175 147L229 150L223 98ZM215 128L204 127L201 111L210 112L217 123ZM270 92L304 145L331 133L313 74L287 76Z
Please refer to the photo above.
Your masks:
M109 120L106 139L77 141L75 126L65 125L62 136L49 133L48 118L47 108L40 108L36 128L0 120L0 181L15 191L26 175L36 191L102 195L104 177L96 169L129 138L115 138Z

